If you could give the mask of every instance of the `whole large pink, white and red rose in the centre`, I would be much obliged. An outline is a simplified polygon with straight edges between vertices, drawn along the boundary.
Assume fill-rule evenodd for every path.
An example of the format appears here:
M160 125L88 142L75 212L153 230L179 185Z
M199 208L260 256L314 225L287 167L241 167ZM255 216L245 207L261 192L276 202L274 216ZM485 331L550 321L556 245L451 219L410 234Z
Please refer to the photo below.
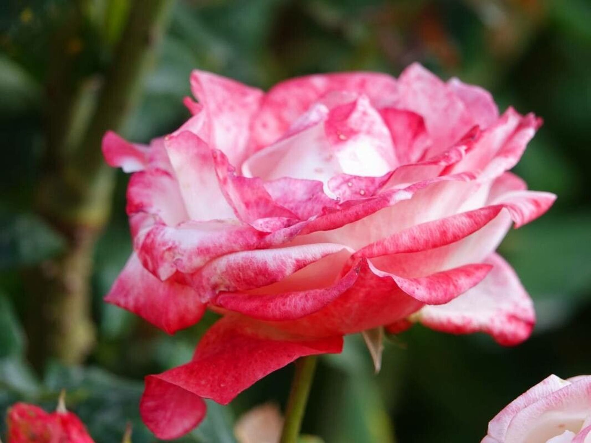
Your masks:
M134 253L106 297L174 333L222 318L193 360L146 379L161 438L202 421L343 335L415 322L501 344L530 335L531 299L495 249L556 198L509 169L540 126L418 64L318 74L264 93L191 74L193 116L151 145L106 134L126 172Z

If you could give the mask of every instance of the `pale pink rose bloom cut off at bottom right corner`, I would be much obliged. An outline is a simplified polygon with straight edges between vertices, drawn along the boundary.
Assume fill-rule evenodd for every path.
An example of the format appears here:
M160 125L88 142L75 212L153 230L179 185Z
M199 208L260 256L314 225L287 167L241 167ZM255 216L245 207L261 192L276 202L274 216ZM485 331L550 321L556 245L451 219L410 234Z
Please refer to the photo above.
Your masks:
M551 375L499 412L482 443L591 443L591 376Z

